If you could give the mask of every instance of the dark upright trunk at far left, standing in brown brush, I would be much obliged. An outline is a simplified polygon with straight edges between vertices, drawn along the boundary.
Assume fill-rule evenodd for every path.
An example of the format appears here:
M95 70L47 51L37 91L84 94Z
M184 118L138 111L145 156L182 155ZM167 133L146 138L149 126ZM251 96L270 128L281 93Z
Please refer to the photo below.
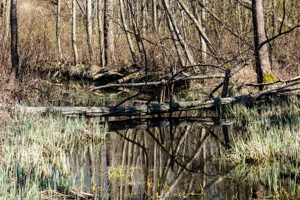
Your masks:
M10 2L10 53L11 53L11 71L9 73L8 85L13 86L16 82L19 56L17 52L17 17L16 17L17 0Z

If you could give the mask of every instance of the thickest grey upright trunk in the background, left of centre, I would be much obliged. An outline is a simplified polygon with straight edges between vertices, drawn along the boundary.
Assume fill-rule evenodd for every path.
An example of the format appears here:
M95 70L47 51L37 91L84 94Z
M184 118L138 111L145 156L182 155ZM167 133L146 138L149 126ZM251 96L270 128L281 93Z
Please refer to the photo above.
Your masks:
M113 64L113 0L104 0L104 60L105 65Z

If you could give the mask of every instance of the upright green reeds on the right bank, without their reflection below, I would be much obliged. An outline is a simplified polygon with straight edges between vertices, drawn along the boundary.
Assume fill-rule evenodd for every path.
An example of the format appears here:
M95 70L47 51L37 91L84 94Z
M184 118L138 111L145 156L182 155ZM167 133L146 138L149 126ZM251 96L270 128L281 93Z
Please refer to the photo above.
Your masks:
M227 117L233 117L238 126L238 131L231 130L231 160L241 163L300 161L300 101L277 102L228 108Z

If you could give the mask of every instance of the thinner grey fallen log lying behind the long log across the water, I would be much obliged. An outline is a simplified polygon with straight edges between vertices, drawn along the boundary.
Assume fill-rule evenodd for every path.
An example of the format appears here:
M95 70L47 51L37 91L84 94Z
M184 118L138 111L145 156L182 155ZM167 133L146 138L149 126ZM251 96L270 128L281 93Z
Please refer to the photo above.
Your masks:
M180 80L197 80L197 79L209 79L209 78L223 78L225 77L224 74L212 74L212 75L193 75L193 76L184 76L184 77L178 77L174 78L174 81L180 81ZM167 80L167 79L166 79ZM155 81L155 82L147 82L148 86L153 85L159 85L161 81ZM138 86L144 86L144 82L137 82L137 83L109 83L105 85L100 85L94 88L91 88L90 91L95 91L98 89L108 88L108 87L138 87Z

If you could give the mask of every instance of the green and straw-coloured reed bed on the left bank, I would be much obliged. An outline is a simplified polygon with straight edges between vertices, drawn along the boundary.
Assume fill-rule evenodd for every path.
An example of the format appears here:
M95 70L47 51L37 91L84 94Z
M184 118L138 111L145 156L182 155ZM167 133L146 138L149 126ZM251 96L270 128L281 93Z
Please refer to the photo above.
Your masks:
M91 140L101 142L105 131L97 123L86 124L84 117L14 116L14 120L1 128L0 196L3 199L72 196L76 185L66 152L72 154L87 148Z

